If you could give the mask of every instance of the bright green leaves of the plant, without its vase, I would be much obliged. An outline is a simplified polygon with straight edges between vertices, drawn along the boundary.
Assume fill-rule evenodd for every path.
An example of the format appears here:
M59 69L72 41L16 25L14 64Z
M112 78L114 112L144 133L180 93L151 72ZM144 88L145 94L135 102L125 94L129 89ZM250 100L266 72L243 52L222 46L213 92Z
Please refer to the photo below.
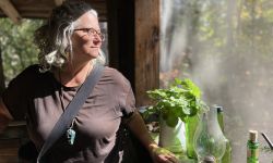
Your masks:
M179 118L187 122L187 117L207 110L199 87L189 78L176 78L168 88L149 90L147 95L156 103L147 108L144 117L158 113L170 127L175 127Z

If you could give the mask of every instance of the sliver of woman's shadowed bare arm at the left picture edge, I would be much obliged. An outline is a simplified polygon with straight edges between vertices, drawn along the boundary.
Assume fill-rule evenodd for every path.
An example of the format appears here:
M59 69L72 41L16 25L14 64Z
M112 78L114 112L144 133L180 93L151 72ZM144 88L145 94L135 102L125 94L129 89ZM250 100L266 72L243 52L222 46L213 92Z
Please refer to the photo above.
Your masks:
M0 134L8 126L9 122L12 120L13 117L11 116L7 106L4 105L2 98L0 98Z

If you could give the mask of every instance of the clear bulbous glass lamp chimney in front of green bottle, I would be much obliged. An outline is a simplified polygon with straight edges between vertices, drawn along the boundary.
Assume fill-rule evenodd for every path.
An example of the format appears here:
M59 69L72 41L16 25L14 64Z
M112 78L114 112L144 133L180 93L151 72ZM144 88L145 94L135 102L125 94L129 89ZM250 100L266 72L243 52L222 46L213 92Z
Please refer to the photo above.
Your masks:
M217 120L217 110L211 108L203 113L193 138L193 148L199 162L202 162L206 155L213 155L217 163L226 150L225 136L219 127Z

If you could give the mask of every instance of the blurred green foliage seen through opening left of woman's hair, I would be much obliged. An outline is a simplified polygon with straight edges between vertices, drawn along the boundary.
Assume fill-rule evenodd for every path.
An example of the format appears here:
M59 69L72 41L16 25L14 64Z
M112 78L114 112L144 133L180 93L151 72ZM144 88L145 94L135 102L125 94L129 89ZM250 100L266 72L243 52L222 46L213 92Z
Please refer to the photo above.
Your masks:
M37 63L38 49L33 35L41 20L23 20L16 25L10 18L0 18L0 49L5 84L27 65Z

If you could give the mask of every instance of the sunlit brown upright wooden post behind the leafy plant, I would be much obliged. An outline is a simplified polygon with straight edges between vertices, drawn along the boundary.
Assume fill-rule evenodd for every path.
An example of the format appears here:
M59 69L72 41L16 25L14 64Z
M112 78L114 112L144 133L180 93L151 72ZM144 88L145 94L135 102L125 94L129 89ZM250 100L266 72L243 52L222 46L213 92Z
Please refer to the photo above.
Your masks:
M135 0L136 105L150 104L146 90L159 87L159 1Z

